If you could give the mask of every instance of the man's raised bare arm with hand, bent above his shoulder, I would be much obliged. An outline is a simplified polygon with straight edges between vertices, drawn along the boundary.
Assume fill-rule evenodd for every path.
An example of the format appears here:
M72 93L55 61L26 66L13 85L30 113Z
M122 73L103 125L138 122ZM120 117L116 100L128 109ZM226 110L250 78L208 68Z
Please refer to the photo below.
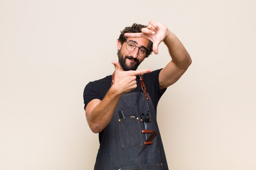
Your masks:
M191 64L191 58L180 40L159 22L150 21L142 33L126 33L126 37L145 37L153 42L153 52L158 54L158 45L164 41L172 60L159 73L160 90L175 83Z

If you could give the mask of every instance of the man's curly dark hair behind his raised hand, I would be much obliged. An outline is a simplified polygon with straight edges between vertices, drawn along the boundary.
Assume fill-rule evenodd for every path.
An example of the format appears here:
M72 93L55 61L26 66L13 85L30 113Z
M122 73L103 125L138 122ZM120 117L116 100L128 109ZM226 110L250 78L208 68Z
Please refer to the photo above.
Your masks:
M121 41L121 44L124 44L124 41L126 41L127 37L124 36L125 33L141 33L141 28L146 28L147 26L141 25L141 24L132 24L132 26L128 26L124 28L123 31L120 31L121 34L119 35L119 38L117 40ZM153 42L149 40L149 46L147 49L147 54L145 58L147 58L153 51ZM117 53L118 54L118 53Z

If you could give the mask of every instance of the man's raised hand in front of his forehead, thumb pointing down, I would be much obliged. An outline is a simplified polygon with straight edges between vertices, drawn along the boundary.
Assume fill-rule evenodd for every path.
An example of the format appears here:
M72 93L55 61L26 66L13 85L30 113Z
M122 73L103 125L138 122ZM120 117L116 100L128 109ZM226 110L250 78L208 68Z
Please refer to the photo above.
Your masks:
M126 37L144 37L153 42L153 52L158 54L158 45L164 41L165 37L168 35L168 28L155 21L150 21L146 28L141 29L142 33L125 33Z

